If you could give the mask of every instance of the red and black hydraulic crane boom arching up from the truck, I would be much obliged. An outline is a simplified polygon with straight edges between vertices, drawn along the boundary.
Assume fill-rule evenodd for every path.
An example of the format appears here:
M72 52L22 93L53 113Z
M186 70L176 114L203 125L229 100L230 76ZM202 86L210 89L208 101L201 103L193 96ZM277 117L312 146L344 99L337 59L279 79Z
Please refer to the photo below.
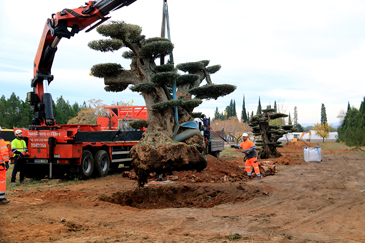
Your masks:
M53 80L50 70L54 54L61 38L70 38L80 30L97 20L86 32L101 24L110 17L105 17L110 11L127 6L136 0L98 0L85 2L85 6L53 13L48 18L40 38L33 67L34 73L30 86L32 92L27 93L27 101L31 104L33 113L32 125L54 126L52 97L48 93L48 85Z

